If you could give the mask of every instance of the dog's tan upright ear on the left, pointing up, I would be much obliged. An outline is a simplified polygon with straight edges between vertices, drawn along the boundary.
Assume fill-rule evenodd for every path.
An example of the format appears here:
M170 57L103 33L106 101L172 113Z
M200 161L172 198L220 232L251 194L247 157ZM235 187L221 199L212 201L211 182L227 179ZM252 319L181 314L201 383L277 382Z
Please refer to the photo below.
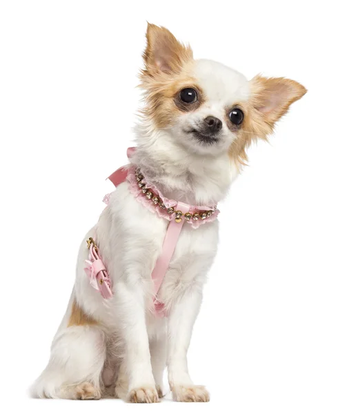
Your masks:
M144 75L154 77L161 72L178 73L183 63L192 59L190 46L184 46L166 28L148 23L147 47L143 53Z

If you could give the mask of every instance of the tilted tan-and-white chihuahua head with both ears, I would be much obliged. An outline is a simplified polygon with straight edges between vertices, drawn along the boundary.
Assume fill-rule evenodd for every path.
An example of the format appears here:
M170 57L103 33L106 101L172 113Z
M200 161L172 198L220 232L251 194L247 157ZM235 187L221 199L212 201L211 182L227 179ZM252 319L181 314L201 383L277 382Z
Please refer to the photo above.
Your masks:
M290 104L306 93L290 79L257 76L248 81L221 63L195 60L190 46L166 28L149 24L146 37L144 115L154 130L168 132L172 146L190 153L229 152L243 163L252 139L266 139Z

